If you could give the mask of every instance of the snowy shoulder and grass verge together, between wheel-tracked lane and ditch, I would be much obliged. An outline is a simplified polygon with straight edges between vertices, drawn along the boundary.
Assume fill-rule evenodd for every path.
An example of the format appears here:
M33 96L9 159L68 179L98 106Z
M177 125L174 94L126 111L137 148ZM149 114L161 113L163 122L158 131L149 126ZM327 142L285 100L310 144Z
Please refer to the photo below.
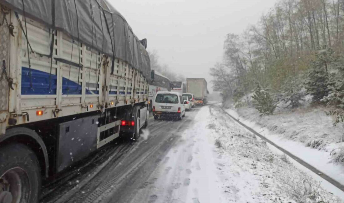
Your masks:
M133 202L341 202L217 106L194 111Z

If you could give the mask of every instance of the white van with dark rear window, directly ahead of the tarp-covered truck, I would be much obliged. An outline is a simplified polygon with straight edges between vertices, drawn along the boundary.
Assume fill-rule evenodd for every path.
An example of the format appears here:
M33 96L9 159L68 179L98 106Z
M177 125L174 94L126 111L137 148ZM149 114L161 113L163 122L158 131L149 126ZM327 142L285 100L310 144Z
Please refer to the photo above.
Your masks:
M182 120L185 116L182 95L178 92L157 92L153 100L153 116L154 119L167 117Z

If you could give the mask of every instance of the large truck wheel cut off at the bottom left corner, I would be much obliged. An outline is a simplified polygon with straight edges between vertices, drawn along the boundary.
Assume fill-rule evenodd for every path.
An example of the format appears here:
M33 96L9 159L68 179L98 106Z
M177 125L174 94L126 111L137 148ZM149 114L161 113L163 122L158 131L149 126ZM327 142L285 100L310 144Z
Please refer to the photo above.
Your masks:
M19 143L2 146L0 163L0 202L38 202L41 174L34 152Z

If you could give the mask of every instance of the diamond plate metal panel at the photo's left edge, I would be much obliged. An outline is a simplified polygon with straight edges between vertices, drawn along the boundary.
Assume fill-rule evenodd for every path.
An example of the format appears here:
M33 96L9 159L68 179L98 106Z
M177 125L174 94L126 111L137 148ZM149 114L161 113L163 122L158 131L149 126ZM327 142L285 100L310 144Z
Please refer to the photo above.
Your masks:
M3 12L0 5L0 22L3 21ZM3 75L3 63L6 61L7 74L9 65L9 52L10 52L10 33L6 22L0 26L0 111L8 110L8 82L6 77ZM3 75L3 77L1 77Z

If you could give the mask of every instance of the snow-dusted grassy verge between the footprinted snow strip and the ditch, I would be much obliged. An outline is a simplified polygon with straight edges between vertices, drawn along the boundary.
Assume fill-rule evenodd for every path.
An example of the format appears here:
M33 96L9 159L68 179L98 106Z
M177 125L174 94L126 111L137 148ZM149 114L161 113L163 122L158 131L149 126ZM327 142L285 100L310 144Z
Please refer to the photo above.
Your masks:
M234 123L219 109L209 125L222 157L226 193L237 202L341 202L311 176L295 168L285 155ZM221 143L221 144L219 144ZM220 165L221 166L221 165Z

